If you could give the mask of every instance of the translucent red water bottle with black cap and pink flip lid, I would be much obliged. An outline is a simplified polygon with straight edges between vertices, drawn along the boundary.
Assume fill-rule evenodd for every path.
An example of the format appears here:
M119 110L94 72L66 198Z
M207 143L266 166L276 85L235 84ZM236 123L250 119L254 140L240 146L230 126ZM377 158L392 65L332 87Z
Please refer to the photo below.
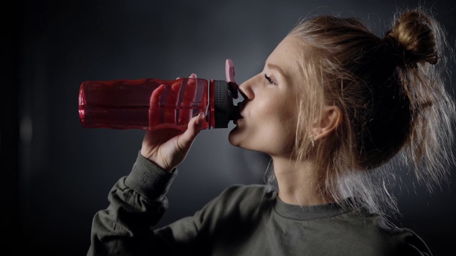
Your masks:
M110 129L187 129L192 117L206 113L202 129L226 128L237 119L238 97L232 60L226 80L179 78L85 81L78 95L83 127Z

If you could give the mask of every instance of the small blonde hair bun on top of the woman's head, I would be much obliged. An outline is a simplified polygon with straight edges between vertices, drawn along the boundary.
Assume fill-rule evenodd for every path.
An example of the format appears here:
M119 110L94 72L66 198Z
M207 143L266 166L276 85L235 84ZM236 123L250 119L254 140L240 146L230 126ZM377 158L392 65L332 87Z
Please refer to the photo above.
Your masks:
M396 57L405 64L427 62L433 65L439 59L436 29L437 23L422 11L406 11L386 33L383 42L393 48Z

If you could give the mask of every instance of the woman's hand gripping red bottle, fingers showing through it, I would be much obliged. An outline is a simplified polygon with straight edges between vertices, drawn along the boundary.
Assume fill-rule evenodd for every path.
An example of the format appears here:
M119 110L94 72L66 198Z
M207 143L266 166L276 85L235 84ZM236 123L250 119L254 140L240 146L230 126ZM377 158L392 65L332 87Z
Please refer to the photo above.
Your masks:
M190 75L190 78L196 78L195 74ZM196 90L196 82L193 82L194 85L189 85L190 89L194 86ZM160 88L159 88L160 89ZM167 97L167 103L174 101L177 104L177 97L174 97L179 94L180 85L172 85L172 92ZM185 97L190 98L195 97L195 90L185 91ZM173 96L174 95L174 96ZM160 100L160 90L152 93L152 98L156 97L155 100ZM184 102L187 102L184 100ZM191 102L191 101L189 101ZM165 119L175 119L175 111L165 110ZM199 134L201 130L202 123L204 122L204 113L200 113L197 117L189 116L190 113L184 114L180 113L179 122L188 122L187 129L185 132L182 132L179 129L165 128L165 129L155 129L149 130L146 132L144 139L142 139L142 147L140 154L145 158L153 161L155 164L160 166L166 171L171 171L175 166L180 164L187 156L190 147L192 146L193 141ZM190 119L191 118L191 119ZM189 122L190 119L190 122Z

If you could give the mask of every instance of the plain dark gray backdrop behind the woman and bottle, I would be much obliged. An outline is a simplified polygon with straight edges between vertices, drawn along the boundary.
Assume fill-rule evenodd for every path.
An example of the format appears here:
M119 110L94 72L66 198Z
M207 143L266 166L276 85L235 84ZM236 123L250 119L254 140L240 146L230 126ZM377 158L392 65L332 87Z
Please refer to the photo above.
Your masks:
M10 252L85 255L93 215L108 205L115 181L129 173L144 132L81 127L77 97L84 80L167 80L190 73L222 80L224 60L231 58L240 83L261 70L299 18L358 16L383 34L397 7L417 3L15 1L3 9L1 25L1 243ZM456 4L425 6L454 48ZM262 182L266 157L231 146L229 129L201 132L180 166L160 226L194 213L232 183ZM395 222L443 255L456 231L456 185L444 184L430 196L411 181L403 175L403 215Z

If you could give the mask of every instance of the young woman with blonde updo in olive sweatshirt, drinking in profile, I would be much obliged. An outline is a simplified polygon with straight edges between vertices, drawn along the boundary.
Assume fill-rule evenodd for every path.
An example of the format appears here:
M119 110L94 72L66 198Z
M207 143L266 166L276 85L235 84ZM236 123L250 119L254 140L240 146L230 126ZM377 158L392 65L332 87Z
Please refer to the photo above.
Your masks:
M392 163L430 189L453 164L442 46L441 28L420 10L400 14L383 38L355 18L302 21L240 85L229 134L271 156L276 186L231 186L153 230L204 114L185 132L149 131L93 219L88 255L431 255L384 216L397 211Z

